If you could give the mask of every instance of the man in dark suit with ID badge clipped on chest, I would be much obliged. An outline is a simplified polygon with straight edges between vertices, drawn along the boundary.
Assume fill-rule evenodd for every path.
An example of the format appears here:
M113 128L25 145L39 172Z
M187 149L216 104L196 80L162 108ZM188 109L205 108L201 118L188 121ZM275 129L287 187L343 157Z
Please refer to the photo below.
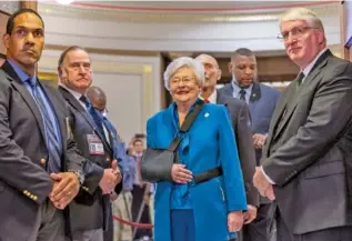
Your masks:
M79 200L70 205L73 240L112 241L110 193L122 177L113 159L110 132L103 128L102 119L86 96L92 83L90 57L84 49L70 47L61 53L58 71L59 91L71 111L73 138L82 155L93 163L92 178L99 180L90 205ZM121 188L120 183L117 193Z

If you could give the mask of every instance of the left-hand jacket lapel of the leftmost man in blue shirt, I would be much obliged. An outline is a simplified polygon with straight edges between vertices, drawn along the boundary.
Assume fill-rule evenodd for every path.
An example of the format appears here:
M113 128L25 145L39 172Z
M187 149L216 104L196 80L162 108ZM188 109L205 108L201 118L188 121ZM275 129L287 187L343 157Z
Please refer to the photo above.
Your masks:
M33 117L37 120L37 123L39 125L40 132L46 140L47 143L47 135L46 135L46 130L44 130L44 122L41 117L40 110L38 109L38 106L33 99L33 97L30 94L30 92L27 90L26 86L23 82L20 80L20 78L17 76L14 72L13 68L10 66L8 61L6 61L1 69L4 70L7 73L8 79L11 81L12 87L22 96L24 102L29 107L29 109L32 111Z

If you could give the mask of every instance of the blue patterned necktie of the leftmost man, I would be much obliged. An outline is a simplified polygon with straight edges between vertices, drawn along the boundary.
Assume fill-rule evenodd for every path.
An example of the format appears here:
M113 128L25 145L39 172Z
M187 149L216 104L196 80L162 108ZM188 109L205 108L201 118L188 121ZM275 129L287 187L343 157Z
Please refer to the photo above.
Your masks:
M51 172L60 172L61 171L61 143L59 141L59 137L54 130L53 123L50 121L49 111L46 107L46 101L42 99L42 96L39 92L39 86L34 78L29 78L27 82L32 88L33 98L36 103L40 110L44 122L44 131L47 137L47 148L49 151L49 162L48 162L48 171Z

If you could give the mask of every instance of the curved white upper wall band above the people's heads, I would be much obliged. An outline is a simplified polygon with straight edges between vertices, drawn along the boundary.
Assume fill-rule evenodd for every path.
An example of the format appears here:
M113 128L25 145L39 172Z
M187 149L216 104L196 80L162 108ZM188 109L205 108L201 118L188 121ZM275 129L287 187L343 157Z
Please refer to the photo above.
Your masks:
M269 11L269 10L268 10ZM340 44L338 4L316 9L329 44ZM282 50L278 12L241 14L142 13L39 3L49 44L151 51ZM219 16L219 18L218 18ZM143 19L144 18L144 19ZM207 18L209 20L207 20Z

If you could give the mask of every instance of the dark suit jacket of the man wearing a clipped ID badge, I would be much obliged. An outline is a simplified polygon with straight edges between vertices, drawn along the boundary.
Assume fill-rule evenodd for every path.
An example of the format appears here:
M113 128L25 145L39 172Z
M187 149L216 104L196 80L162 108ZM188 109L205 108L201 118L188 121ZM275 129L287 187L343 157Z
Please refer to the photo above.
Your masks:
M93 187L91 190L93 193L89 195L87 192L82 192L76 201L70 204L72 230L82 231L101 228L107 230L108 223L112 221L110 195L102 194L99 182L104 169L111 168L111 161L113 160L112 148L105 141L103 133L99 131L93 119L81 103L64 88L59 87L59 91L69 104L72 133L77 147L82 155L91 163L83 187ZM93 133L103 144L103 154L91 154L89 151L88 134ZM121 191L121 188L122 184L120 183L117 193Z

